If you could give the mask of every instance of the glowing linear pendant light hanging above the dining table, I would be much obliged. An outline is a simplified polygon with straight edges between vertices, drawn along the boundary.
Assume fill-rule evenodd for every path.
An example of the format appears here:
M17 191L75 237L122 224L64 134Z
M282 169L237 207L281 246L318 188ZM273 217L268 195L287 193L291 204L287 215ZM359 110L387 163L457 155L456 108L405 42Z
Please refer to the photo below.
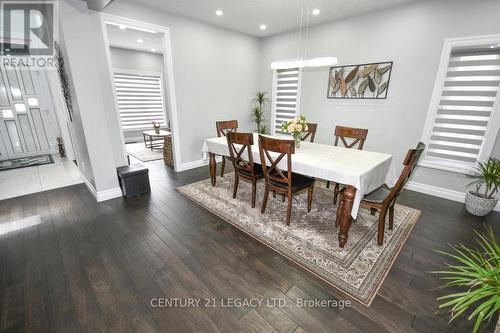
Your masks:
M297 49L297 58L290 60L274 61L271 63L271 69L330 67L330 66L335 66L338 63L338 59L336 57L319 57L319 58L307 59L307 42L309 38L309 9L307 10L304 57L299 58L300 42L302 40L303 17L304 17L304 9L301 10L300 14L300 29L299 29L299 41L298 41L299 47Z

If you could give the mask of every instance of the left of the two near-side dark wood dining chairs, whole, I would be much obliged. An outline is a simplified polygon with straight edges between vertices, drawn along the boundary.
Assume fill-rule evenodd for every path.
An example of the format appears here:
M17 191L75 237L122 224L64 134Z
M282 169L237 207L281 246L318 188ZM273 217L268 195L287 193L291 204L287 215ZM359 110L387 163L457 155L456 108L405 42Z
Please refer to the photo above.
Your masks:
M252 155L253 134L228 132L226 134L229 154L234 167L233 198L236 198L240 179L252 183L252 208L255 208L257 181L264 179L260 164L254 163ZM247 159L244 158L246 152Z

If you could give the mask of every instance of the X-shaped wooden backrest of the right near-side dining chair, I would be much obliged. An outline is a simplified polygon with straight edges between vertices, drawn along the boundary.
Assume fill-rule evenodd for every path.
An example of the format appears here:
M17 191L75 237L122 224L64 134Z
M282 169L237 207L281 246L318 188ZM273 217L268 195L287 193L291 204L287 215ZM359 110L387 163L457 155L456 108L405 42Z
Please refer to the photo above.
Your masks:
M274 158L270 153L278 153ZM295 142L293 140L275 139L259 135L259 153L264 177L267 181L292 184L292 154L295 153ZM278 164L286 156L287 170L282 170Z

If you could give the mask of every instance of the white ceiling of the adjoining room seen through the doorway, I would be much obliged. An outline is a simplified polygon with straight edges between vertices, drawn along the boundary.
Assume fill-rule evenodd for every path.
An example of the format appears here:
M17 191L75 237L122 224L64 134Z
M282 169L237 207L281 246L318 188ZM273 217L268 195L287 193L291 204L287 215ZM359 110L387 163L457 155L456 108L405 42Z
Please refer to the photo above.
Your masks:
M163 43L161 34L134 30L130 27L120 29L118 26L107 24L109 46L122 49L145 51L161 54ZM137 40L142 39L142 43ZM151 51L155 49L155 52Z

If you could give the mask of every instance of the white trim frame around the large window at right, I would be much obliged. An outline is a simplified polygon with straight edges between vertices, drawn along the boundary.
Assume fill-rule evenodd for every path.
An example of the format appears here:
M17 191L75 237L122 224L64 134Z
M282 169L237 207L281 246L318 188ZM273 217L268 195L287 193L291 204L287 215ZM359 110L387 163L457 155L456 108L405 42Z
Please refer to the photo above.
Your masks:
M451 57L451 51L454 47L474 47L484 44L500 44L500 35L487 35L478 37L465 37L465 38L450 38L445 39L443 43L443 49L441 52L441 58L439 61L439 67L436 75L436 80L434 82L434 87L432 90L432 97L429 104L429 109L427 112L427 118L424 125L424 130L422 133L422 142L429 145L432 129L435 124L436 115L438 112L438 106L441 101L441 95L443 92L443 87L446 81L448 73L448 65ZM497 91L497 96L493 107L491 109L491 116L486 128L483 143L481 149L479 150L478 160L483 162L487 160L495 145L496 137L500 129L500 87ZM451 171L461 174L471 174L474 171L476 163L459 162L453 160L446 160L442 158L432 157L424 155L421 161L418 163L419 166Z

